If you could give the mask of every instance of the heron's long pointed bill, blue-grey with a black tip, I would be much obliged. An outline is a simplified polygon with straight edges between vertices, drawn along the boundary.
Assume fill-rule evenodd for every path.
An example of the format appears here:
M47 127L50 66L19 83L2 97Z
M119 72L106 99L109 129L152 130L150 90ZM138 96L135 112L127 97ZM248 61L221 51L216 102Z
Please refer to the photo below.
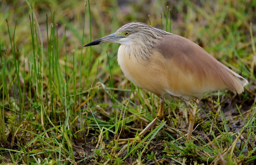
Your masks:
M105 37L102 37L98 40L92 41L91 43L87 43L86 45L84 45L84 47L85 46L92 46L92 45L99 45L101 43L115 42L115 41L119 41L121 38L124 38L124 35L113 33L111 35L107 35Z

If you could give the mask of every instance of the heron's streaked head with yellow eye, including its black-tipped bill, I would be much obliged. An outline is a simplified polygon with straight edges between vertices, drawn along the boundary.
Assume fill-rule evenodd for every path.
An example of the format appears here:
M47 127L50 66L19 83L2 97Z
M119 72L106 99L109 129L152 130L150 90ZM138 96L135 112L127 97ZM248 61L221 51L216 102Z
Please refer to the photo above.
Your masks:
M115 33L92 41L84 46L98 45L101 43L120 43L123 45L138 43L155 43L157 39L170 34L163 30L153 28L144 23L129 23L119 28Z

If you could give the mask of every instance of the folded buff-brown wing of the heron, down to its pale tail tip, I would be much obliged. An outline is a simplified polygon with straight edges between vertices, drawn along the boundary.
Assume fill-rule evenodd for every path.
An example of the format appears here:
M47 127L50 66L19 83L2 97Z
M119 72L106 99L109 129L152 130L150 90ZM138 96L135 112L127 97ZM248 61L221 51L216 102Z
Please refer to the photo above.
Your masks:
M167 92L174 96L201 98L206 92L227 89L240 94L248 84L199 45L179 35L167 35L155 48L164 56Z

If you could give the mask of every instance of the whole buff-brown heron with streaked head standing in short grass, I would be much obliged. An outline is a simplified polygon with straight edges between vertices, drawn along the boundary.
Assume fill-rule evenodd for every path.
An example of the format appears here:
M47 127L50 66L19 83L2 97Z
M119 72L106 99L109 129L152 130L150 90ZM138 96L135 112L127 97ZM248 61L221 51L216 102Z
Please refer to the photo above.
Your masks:
M248 81L221 64L187 38L153 28L144 23L129 23L115 33L84 46L120 43L117 61L124 75L141 89L160 98L157 117L140 132L143 136L164 115L164 100L181 100L189 112L187 139L190 140L195 114L188 101L205 93L231 90L241 94Z

